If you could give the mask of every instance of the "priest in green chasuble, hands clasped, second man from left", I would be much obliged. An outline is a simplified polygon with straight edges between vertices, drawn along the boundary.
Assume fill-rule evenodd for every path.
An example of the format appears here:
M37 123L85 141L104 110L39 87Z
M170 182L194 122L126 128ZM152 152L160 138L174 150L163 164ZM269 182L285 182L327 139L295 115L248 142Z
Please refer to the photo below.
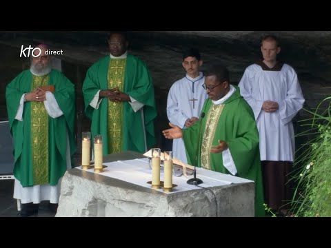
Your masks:
M110 55L94 63L83 82L91 134L103 137L103 154L146 152L154 145L157 110L146 63L128 54L125 32L108 38Z

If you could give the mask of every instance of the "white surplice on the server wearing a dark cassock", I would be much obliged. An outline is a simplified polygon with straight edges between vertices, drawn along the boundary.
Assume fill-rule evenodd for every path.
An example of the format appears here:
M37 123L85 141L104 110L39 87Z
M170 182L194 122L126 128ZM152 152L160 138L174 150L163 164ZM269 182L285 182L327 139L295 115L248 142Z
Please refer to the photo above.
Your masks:
M294 69L287 64L283 64L281 70L263 70L261 65L250 65L239 87L257 121L261 161L293 161L295 144L292 118L305 102ZM263 101L277 102L279 110L264 112Z

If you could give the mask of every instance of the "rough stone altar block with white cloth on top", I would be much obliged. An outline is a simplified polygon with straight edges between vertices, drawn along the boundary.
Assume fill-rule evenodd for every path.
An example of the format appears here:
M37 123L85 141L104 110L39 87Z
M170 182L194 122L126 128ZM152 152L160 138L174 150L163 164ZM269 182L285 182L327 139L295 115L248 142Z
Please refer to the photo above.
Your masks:
M186 183L192 176L174 176L178 186L165 193L148 185L151 170L142 154L110 154L103 156L103 163L108 167L100 174L80 167L66 172L57 217L254 216L251 180L197 168L201 187Z

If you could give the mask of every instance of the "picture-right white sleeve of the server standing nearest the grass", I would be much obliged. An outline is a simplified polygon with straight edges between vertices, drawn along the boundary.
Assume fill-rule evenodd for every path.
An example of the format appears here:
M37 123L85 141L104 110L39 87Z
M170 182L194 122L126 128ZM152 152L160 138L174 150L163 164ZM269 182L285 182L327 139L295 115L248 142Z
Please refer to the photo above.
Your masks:
M292 121L292 118L301 110L305 102L297 73L295 73L293 69L289 70L286 75L286 81L288 87L286 96L285 99L279 103L279 115L284 125Z

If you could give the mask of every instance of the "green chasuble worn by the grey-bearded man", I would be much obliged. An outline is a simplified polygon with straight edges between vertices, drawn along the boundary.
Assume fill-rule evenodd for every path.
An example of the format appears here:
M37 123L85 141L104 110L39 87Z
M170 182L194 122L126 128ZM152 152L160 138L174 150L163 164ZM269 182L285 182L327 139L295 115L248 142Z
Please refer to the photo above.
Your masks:
M48 116L45 105L23 103L23 120L15 119L21 96L41 85L54 85L54 98L63 115ZM33 76L24 70L6 86L10 132L14 140L14 176L23 187L57 185L67 169L67 132L70 156L74 145L74 85L57 70Z

